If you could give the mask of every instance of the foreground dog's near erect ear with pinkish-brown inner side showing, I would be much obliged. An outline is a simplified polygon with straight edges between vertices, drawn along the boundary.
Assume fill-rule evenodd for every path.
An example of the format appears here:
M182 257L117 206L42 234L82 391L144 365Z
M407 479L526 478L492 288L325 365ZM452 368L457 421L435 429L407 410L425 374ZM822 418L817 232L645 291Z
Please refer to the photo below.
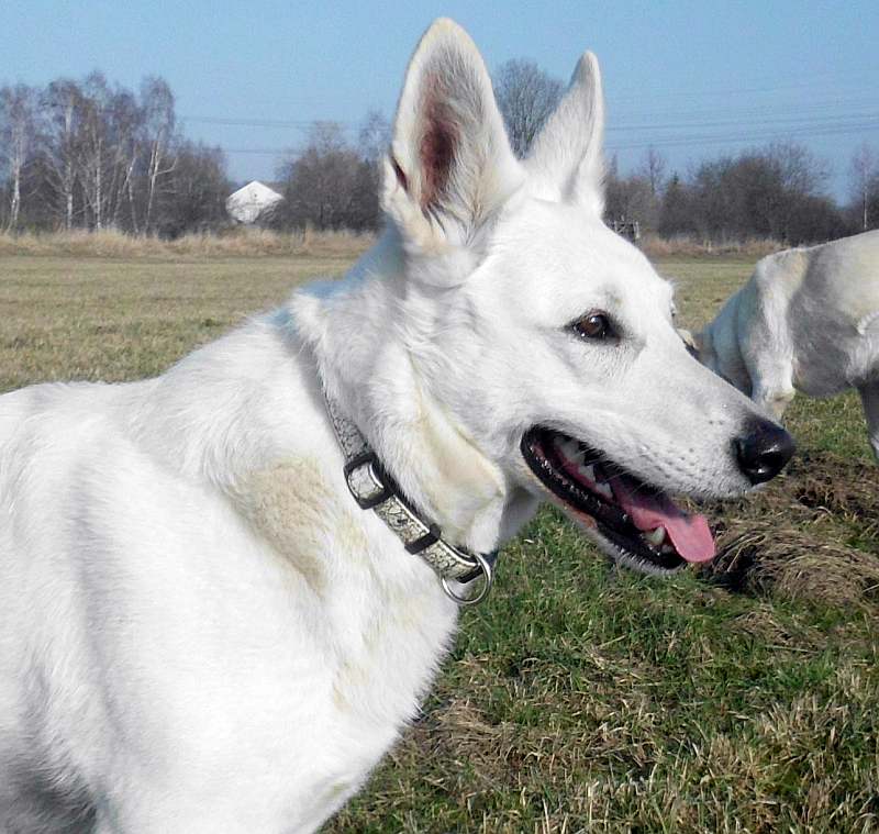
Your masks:
M437 20L407 70L385 211L409 246L442 251L466 243L523 179L481 55L457 23Z

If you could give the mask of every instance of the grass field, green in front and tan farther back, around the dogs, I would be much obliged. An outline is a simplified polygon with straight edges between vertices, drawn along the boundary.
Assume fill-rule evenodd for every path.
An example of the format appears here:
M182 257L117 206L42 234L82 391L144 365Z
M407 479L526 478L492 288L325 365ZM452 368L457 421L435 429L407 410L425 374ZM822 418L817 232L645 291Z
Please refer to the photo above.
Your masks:
M0 390L156 374L349 260L0 255ZM658 268L698 327L752 263ZM879 831L879 467L852 396L798 399L788 425L789 472L711 508L711 570L613 570L541 513L326 830Z

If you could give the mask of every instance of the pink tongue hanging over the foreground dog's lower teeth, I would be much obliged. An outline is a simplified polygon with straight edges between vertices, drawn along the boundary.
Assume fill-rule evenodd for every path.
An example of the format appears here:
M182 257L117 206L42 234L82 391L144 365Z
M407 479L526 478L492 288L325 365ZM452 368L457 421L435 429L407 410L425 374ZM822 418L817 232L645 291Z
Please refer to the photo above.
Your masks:
M663 526L675 549L687 561L714 558L714 540L704 515L688 515L666 496L648 494L631 488L624 477L610 479L613 494L642 532Z

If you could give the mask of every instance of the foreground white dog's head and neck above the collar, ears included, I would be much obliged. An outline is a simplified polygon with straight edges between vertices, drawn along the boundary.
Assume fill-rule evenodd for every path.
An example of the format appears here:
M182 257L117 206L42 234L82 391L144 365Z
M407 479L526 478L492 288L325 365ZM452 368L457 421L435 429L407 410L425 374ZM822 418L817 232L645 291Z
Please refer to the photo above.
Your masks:
M669 493L741 493L792 444L688 354L670 285L602 223L602 131L587 53L519 162L476 46L437 21L400 98L389 231L300 319L386 467L460 544L493 546L548 497L665 572L713 555Z

